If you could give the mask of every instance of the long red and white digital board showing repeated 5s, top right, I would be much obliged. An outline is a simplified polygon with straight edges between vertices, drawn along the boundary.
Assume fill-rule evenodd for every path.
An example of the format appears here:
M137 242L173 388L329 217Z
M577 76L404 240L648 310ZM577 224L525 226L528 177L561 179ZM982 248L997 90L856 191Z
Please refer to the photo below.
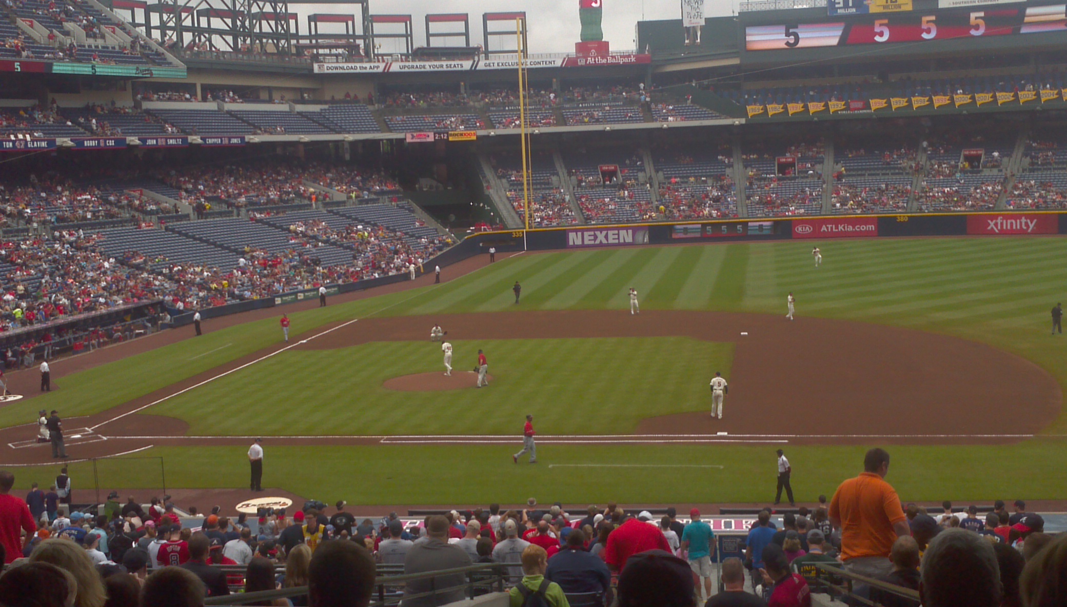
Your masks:
M949 3L941 2L942 5ZM809 17L799 22L782 19L776 23L746 26L745 50L839 49L901 43L921 46L921 43L946 41L977 49L985 41L994 38L1024 48L1032 42L1028 34L1067 33L1065 4L981 4L919 11L912 10L908 0L828 0L828 5L831 18ZM1064 39L1067 41L1067 36Z

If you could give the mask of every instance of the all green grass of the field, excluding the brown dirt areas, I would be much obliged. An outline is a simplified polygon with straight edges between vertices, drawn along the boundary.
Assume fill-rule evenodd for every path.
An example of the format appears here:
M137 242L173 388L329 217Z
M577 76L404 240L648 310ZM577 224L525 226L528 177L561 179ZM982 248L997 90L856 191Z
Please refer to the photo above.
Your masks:
M823 252L817 269L811 256L815 245ZM1067 337L1049 335L1050 308L1067 302L1067 265L1062 259L1067 259L1067 239L1033 237L527 253L445 284L292 314L292 332L303 338L330 323L376 316L624 310L631 287L640 294L642 312L784 315L785 297L793 291L800 318L897 325L981 341L1034 362L1067 386ZM517 305L510 290L515 281L523 285ZM105 411L278 340L276 320L267 319L82 371L63 378L60 390L0 409L0 426L31 422L38 409L61 409L67 416ZM456 367L465 371L473 357L469 349L476 346L462 340L455 346ZM522 501L538 493L534 488L572 502L773 497L774 446L546 444L539 445L538 466L511 463L510 453L519 448L520 415L531 403L544 402L544 395L552 398L536 412L542 434L631 432L644 417L702 410L708 371L713 366L729 368L729 344L619 337L497 340L491 348L490 373L497 379L490 390L382 388L381 382L392 377L441 369L440 351L432 345L395 341L286 352L143 413L180 417L195 434L516 435L514 445L268 446L265 485L327 501ZM676 370L657 363L667 351L680 363ZM797 356L802 360L803 352ZM576 357L587 364L574 365ZM316 372L305 377L306 369ZM269 410L259 404L264 400ZM1015 404L1003 403L1005 416L1024 414ZM959 422L966 432L966 417ZM1003 446L892 446L889 480L908 500L1063 498L1067 416L1061 414L1044 433ZM865 446L786 448L797 498L810 501L859 472ZM165 457L169 486L240 486L248 467L243 451L168 446L138 456ZM649 464L723 467L646 467ZM1026 474L1019 474L1023 468ZM22 470L20 486L54 474L51 466ZM353 480L359 470L375 480ZM115 479L116 486L124 486L123 480ZM139 482L126 480L134 486Z

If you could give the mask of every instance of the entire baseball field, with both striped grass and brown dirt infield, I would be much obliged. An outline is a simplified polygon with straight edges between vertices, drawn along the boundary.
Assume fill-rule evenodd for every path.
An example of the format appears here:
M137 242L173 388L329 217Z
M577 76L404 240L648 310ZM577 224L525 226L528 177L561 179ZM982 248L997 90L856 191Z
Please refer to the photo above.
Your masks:
M58 409L68 436L80 429L74 459L161 457L169 488L245 486L264 436L265 486L429 506L767 502L777 448L813 501L877 445L907 500L1062 498L1067 338L1049 335L1049 309L1067 299L1067 240L818 245L817 269L812 243L790 241L475 259L440 285L290 312L288 344L285 308L209 321L102 365L55 363L58 389L0 409L0 449L39 464L19 486L46 482L49 450L21 443L37 410ZM449 378L434 323L455 347ZM730 382L721 420L707 414L715 371ZM527 413L539 463L516 465ZM156 482L109 469L116 488Z

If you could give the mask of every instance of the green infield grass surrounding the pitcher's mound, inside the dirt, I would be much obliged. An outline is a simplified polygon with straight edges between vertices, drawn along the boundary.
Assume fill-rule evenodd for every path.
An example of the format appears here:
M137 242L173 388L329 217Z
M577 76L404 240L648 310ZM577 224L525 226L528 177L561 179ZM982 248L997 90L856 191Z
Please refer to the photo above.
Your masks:
M626 433L650 412L706 410L704 381L691 378L711 377L710 369L729 371L733 353L733 344L689 337L452 346L456 373L473 367L478 348L492 352L492 389L386 389L382 382L397 376L443 372L441 348L428 341L371 342L289 350L149 411L189 421L189 433L195 435L514 434L527 413L537 416L542 433ZM668 360L672 364L652 363ZM472 373L472 386L474 382ZM271 413L256 416L250 426L254 402L270 403ZM210 403L210 415L204 414L205 403ZM491 413L472 424L463 414L471 410Z

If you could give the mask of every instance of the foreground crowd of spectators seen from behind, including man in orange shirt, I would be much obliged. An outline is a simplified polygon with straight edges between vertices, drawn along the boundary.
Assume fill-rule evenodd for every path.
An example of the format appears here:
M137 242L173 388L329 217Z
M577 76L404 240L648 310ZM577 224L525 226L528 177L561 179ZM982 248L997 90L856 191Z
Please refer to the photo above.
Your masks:
M424 574L403 585L403 605L436 606L488 591L464 588L492 579L487 571L433 575L478 563L500 568L513 606L540 591L538 604L553 607L810 607L813 593L840 595L824 584L838 574L822 565L877 580L854 579L850 592L882 606L1064 604L1067 534L1045 533L1044 518L1022 500L1012 512L997 501L985 516L947 501L937 517L902 506L887 481L889 463L885 450L869 450L862 473L842 481L831 499L819 496L815 510L785 512L781 529L769 508L761 511L743 558L726 558L719 580L712 569L719 543L698 509L684 523L673 508L659 520L615 504L572 515L558 502L544 508L530 498L525 508L452 510L405 525L396 513L361 521L345 501L330 512L310 500L291 517L265 508L232 520L214 507L207 516L191 509L184 520L170 496L145 508L112 492L94 507L98 513L86 514L70 509L66 468L47 492L34 482L25 499L12 494L14 475L0 470L0 554L7 565L0 604L195 607L233 591L296 588L306 593L258 604L363 607L376 573L403 573ZM421 594L430 590L436 594Z

